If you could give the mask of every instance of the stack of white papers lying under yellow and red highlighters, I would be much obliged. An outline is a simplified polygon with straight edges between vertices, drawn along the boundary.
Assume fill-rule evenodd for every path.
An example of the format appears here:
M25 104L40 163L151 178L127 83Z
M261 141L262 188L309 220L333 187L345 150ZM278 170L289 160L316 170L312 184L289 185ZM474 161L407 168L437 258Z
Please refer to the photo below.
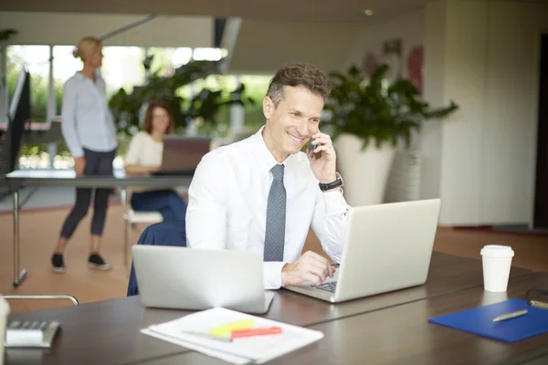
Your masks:
M281 328L281 333L237 338L231 342L214 339L211 336L212 331L222 326L242 322L248 323L248 328ZM227 308L206 309L143 328L141 332L234 364L263 363L323 338L321 331L259 318Z

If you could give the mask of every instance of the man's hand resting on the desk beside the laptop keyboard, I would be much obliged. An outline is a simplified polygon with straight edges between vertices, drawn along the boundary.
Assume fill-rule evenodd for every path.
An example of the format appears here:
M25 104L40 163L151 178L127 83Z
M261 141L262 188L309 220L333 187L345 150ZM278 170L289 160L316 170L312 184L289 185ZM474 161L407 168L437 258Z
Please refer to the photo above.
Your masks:
M297 286L304 282L320 285L327 276L333 277L335 267L327 259L312 251L302 254L297 260L281 269L281 285Z

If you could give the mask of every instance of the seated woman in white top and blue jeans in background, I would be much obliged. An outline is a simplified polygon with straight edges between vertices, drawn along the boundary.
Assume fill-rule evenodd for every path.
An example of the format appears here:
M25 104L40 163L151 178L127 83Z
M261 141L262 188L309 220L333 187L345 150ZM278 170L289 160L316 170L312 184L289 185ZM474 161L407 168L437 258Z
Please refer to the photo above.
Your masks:
M163 100L148 104L142 131L135 134L125 155L125 171L128 175L145 175L155 172L162 165L163 136L174 134L174 115ZM186 203L172 189L132 190L132 209L160 212L164 222L183 221Z

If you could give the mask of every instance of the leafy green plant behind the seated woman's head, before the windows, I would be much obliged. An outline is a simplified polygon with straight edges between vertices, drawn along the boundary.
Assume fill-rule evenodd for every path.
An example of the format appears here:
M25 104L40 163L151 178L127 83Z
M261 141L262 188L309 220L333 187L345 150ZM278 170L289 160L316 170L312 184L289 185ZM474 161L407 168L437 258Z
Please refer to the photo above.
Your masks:
M139 127L142 119L142 108L150 99L164 99L174 113L175 128L185 128L191 120L200 119L204 123L216 124L219 110L233 103L253 103L252 99L243 98L245 86L230 92L222 88L202 89L192 98L184 98L179 90L199 79L216 75L216 61L191 61L179 68L175 68L171 75L163 76L159 71L152 72L153 56L146 57L143 67L147 76L142 85L132 89L128 94L119 89L110 101L110 107L116 120L119 131L132 134L135 127Z

